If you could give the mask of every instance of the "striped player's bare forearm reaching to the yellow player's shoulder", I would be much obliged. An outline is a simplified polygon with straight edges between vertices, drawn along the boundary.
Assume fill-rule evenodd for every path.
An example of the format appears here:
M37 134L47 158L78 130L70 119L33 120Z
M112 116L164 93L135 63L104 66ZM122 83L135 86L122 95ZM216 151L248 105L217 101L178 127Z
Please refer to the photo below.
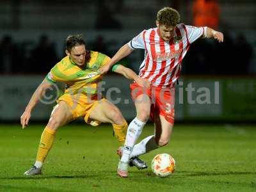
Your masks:
M106 72L109 71L109 69L118 61L122 60L122 58L125 58L126 56L128 56L129 54L131 54L132 49L125 44L123 47L121 47L115 54L115 56L113 56L113 58L111 58L111 60L109 61L109 63L107 63L106 65L104 65L103 67L101 67L99 69L101 74L106 74Z

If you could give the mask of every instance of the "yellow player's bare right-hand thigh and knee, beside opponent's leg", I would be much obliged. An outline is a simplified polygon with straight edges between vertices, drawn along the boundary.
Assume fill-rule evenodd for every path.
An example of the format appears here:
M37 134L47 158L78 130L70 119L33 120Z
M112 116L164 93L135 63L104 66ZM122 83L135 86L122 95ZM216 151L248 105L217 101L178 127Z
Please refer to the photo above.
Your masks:
M121 111L108 100L100 100L90 111L90 118L103 123L124 124L124 116Z

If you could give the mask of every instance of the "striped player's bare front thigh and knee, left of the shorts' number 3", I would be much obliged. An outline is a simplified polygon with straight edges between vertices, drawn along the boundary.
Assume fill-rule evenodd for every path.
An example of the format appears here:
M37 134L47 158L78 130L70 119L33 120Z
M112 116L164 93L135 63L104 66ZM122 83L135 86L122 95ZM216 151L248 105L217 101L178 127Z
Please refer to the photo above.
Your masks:
M137 118L142 122L147 122L150 116L150 97L148 97L147 94L141 94L134 99L134 105L136 108Z

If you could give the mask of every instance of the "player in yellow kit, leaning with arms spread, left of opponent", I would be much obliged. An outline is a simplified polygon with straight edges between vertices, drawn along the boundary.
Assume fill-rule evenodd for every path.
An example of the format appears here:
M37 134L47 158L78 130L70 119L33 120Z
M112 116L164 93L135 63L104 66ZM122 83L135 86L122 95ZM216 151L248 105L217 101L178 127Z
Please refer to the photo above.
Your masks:
M56 82L66 84L65 93L57 99L57 105L52 110L49 122L42 132L35 164L24 175L42 173L43 163L51 150L57 129L81 116L86 123L94 126L101 122L111 123L116 138L121 145L124 145L127 122L114 104L97 94L97 85L102 80L102 74L98 69L108 63L110 58L100 52L87 51L81 35L68 36L65 52L67 56L47 74L20 117L20 124L24 129L28 125L31 111L45 91ZM128 79L133 79L141 86L149 86L148 81L138 77L129 68L116 65L112 70ZM136 159L134 165L138 168L147 168L140 159Z

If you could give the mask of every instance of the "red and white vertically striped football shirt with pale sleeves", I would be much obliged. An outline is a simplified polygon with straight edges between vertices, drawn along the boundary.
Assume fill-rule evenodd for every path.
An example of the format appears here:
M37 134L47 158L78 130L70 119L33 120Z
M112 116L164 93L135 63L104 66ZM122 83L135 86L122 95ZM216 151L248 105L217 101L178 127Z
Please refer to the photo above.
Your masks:
M182 59L189 45L204 35L206 28L178 24L170 42L164 41L157 29L142 31L128 45L131 49L145 49L139 76L148 79L154 86L168 88L172 87L179 77Z

